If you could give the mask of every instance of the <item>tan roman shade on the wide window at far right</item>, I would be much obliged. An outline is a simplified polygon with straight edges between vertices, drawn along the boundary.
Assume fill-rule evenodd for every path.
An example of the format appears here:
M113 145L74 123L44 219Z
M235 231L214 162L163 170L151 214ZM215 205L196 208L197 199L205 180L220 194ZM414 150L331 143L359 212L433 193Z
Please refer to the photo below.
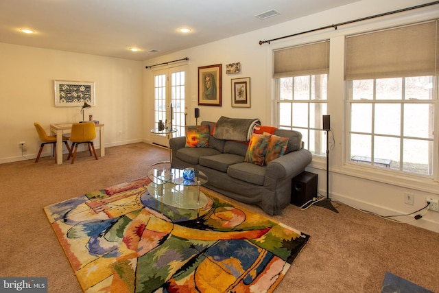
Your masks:
M346 80L438 73L437 21L346 37Z

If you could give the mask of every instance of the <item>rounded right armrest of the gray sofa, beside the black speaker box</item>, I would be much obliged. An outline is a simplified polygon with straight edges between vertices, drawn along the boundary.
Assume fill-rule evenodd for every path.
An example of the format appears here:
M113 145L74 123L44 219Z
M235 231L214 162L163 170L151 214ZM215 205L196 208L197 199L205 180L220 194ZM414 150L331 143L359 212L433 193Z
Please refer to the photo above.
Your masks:
M312 159L311 152L306 149L289 152L268 163L265 176L274 179L296 177L305 170L305 167L311 163Z

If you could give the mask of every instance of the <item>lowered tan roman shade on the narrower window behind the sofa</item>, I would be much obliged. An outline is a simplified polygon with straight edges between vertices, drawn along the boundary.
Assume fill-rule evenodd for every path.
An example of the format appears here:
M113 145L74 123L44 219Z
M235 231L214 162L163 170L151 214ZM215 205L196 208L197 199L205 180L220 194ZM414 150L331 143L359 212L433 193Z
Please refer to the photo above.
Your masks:
M274 51L274 78L329 73L329 40Z

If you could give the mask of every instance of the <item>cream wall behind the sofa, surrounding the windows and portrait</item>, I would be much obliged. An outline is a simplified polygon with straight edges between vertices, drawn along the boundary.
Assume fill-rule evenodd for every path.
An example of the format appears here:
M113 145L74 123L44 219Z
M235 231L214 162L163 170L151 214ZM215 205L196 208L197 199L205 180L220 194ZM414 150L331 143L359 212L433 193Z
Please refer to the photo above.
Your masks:
M411 213L425 204L425 197L439 198L439 185L433 180L424 178L406 178L392 173L383 173L380 169L358 168L345 163L344 160L344 36L358 32L367 32L382 27L392 27L405 23L412 23L439 16L437 5L429 8L412 10L392 16L383 16L378 19L361 21L351 25L337 27L337 30L327 29L311 34L303 34L293 38L286 38L272 42L270 45L259 45L259 40L269 40L290 34L296 34L333 23L351 21L365 16L381 14L408 8L429 1L408 0L364 0L345 5L341 8L328 10L318 14L289 21L281 25L268 27L263 30L242 34L233 38L219 40L214 43L193 47L183 51L161 56L143 62L150 66L161 62L178 60L188 57L189 62L189 102L188 124L195 124L193 108L200 108L202 120L216 121L220 116L227 117L258 117L262 124L273 124L272 120L272 50L292 45L311 43L317 40L331 40L330 76L329 76L329 115L335 135L335 148L330 154L330 190L333 200L341 200L360 209L375 211L382 215ZM226 75L225 65L232 62L241 62L241 73ZM222 107L198 106L198 67L221 63L222 69ZM152 69L145 69L143 76L145 115L145 141L150 141L148 130L154 127L152 106L154 105L152 92ZM250 77L251 108L231 107L232 78ZM309 171L319 175L320 193L326 196L326 161L324 158L314 159ZM404 204L403 194L414 194L414 205ZM400 218L401 221L413 220L413 216ZM439 232L439 213L430 211L421 220L412 222Z

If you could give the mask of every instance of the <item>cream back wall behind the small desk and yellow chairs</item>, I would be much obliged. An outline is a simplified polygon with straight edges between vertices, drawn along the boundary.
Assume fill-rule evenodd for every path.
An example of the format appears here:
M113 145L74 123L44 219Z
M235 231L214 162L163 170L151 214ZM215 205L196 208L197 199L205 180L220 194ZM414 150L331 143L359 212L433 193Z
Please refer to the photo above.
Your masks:
M107 147L141 141L141 64L0 43L0 163L23 159L20 141L27 143L26 157L36 156L40 142L34 121L49 132L52 123L82 120L78 107L55 107L54 80L95 82L96 106L85 114L105 124Z

